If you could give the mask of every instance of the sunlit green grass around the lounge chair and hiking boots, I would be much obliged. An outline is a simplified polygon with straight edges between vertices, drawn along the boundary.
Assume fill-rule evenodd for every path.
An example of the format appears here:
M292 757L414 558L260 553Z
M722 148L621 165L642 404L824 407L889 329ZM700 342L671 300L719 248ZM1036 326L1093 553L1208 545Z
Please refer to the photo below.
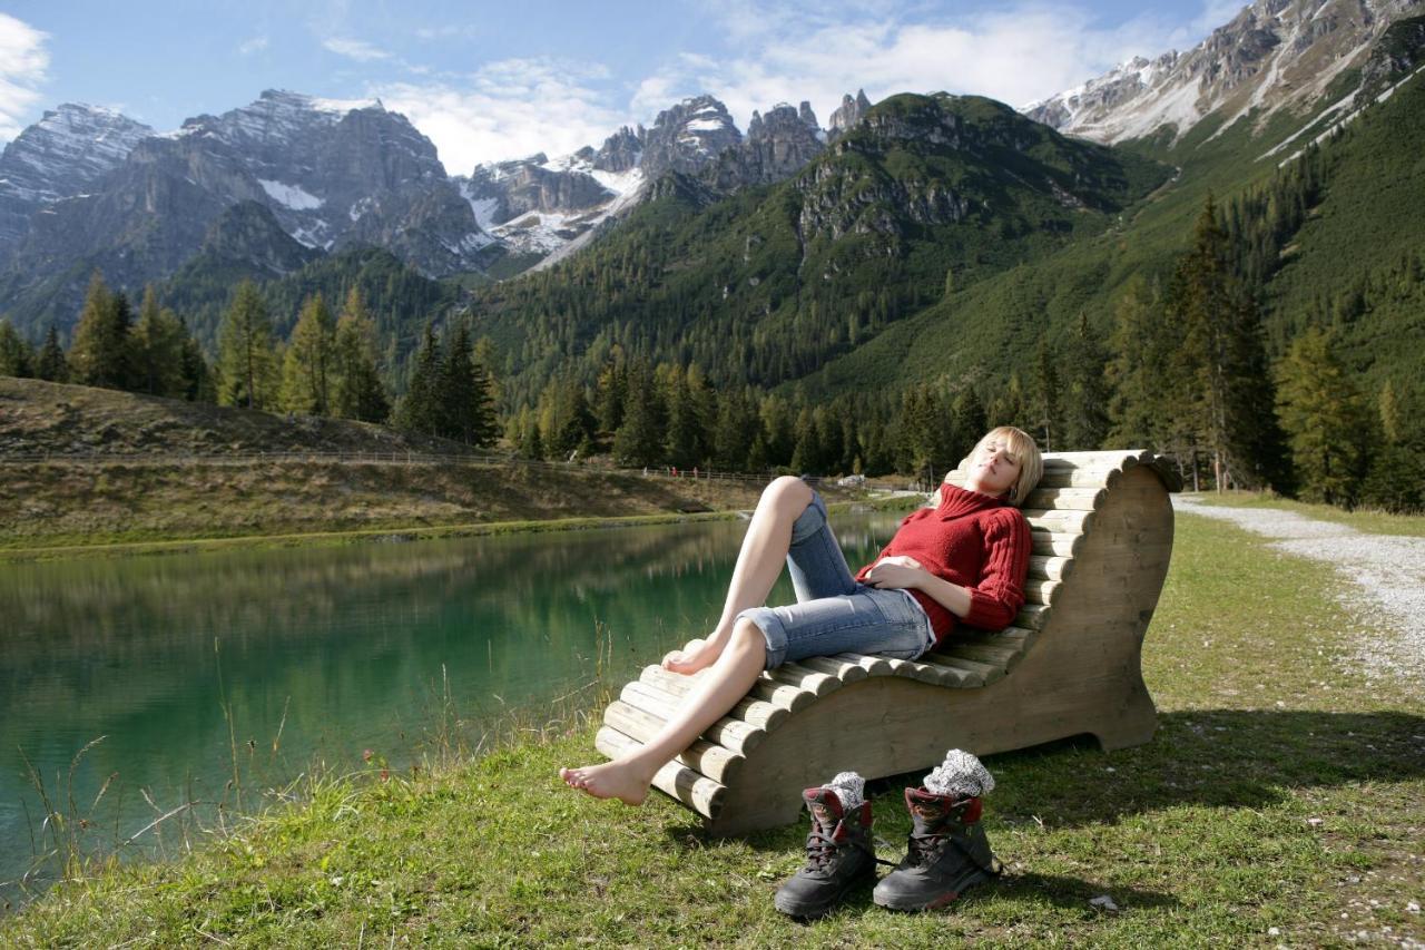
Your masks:
M992 756L986 827L1012 873L946 913L859 894L815 924L781 917L771 896L805 826L720 842L660 795L640 810L573 795L556 769L591 757L594 726L566 719L430 773L314 780L304 805L182 860L54 887L0 921L0 944L1425 940L1408 910L1425 890L1419 688L1365 679L1351 652L1372 632L1337 606L1337 583L1183 515L1144 648L1159 735L1112 755L1064 742ZM899 857L898 786L872 793L882 856ZM1099 894L1120 910L1092 907Z

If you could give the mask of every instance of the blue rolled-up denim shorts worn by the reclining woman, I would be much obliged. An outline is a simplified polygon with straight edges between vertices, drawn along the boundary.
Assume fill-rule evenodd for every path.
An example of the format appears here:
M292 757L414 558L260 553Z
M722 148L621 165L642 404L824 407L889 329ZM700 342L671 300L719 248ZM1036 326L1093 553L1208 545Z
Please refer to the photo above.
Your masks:
M815 491L792 523L787 571L797 603L738 613L767 639L767 669L808 656L879 653L915 659L935 645L931 618L909 591L881 591L851 576Z

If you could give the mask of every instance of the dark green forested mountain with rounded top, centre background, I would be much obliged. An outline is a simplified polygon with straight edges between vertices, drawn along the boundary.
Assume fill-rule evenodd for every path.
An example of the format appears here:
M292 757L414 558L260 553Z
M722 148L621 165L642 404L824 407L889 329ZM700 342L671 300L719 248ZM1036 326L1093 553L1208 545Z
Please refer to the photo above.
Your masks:
M948 284L1102 233L1168 175L992 100L901 94L778 183L728 194L703 174L664 175L617 230L477 288L470 311L509 354L516 405L553 374L591 379L614 345L770 387L864 345Z

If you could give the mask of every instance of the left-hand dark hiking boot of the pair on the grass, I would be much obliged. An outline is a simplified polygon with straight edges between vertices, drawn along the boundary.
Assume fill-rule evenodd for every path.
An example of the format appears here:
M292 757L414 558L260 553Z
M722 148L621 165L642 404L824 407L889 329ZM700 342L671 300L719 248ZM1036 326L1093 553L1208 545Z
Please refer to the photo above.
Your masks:
M807 864L782 882L772 900L792 917L822 917L862 880L875 877L871 844L871 803L842 812L841 799L828 787L807 789L802 800L811 812Z

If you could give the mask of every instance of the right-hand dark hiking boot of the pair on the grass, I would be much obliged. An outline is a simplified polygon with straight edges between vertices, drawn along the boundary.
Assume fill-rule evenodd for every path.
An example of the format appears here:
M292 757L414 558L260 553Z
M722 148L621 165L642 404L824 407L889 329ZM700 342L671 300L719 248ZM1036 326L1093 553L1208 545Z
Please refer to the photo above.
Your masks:
M874 902L892 910L931 910L999 876L1000 864L979 823L979 797L906 789L905 805L915 822L906 856L876 884Z

